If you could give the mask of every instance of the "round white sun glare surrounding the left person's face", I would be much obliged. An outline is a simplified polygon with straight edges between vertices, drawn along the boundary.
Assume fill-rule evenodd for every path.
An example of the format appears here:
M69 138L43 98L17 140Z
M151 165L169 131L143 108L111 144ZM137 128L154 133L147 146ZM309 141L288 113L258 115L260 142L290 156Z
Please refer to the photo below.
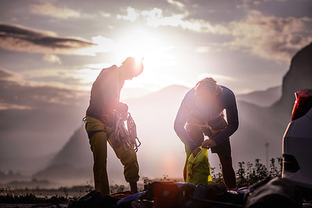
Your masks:
M175 56L172 53L173 46L164 34L155 33L150 28L132 28L130 31L116 37L116 60L125 59L128 56L144 58L144 71L131 82L126 82L124 88L141 88L154 91L155 88L164 86L164 79L168 71L173 69ZM157 90L157 89L156 89Z

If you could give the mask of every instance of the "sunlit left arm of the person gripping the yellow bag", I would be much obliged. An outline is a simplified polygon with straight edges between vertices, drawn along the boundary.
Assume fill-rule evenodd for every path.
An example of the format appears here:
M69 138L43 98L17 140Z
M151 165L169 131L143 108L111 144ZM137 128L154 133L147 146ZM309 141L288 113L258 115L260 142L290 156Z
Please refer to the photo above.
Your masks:
M187 130L185 130L184 125L187 123L187 119L189 119L189 115L191 114L191 100L187 95L184 97L181 106L177 112L177 116L175 117L174 130L177 133L177 136L181 139L181 141L187 146L189 150L193 150L197 147L195 141L189 137Z

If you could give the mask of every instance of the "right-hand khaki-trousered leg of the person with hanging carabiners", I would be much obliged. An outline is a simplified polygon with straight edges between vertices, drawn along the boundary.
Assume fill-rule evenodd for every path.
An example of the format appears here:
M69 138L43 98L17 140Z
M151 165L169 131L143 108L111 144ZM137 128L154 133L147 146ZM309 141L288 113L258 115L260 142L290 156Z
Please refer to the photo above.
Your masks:
M139 164L137 162L137 153L135 150L125 150L123 144L119 147L112 145L112 137L108 139L110 146L112 146L116 156L123 164L123 175L125 175L125 181L130 184L130 191L132 193L137 192L137 181L139 180Z

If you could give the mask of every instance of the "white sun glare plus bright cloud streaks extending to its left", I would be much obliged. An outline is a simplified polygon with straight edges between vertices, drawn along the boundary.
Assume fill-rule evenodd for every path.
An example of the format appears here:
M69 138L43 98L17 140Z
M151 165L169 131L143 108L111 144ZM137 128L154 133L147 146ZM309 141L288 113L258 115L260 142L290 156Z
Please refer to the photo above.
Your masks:
M96 55L97 53L112 51L112 59L109 60L110 63L96 64L98 67L95 71L90 69L96 73L80 76L82 83L93 83L101 69L110 67L112 64L119 66L125 58L132 56L139 60L143 58L144 72L131 82L126 82L125 88L149 87L150 90L154 91L165 87L166 83L168 85L167 73L173 69L176 60L173 53L174 47L164 35L138 26L130 30L125 29L124 33L119 33L114 39L100 35L93 37L92 42L96 46L84 49L80 53ZM82 72L85 73L85 71Z

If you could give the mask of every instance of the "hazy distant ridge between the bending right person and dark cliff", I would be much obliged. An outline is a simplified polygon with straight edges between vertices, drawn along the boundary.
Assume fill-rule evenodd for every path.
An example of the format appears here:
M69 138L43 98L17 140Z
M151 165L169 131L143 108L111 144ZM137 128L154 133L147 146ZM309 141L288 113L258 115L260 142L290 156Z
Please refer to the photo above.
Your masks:
M236 95L237 101L245 101L260 107L268 107L281 98L281 86L270 87L262 91L254 91L248 94Z

